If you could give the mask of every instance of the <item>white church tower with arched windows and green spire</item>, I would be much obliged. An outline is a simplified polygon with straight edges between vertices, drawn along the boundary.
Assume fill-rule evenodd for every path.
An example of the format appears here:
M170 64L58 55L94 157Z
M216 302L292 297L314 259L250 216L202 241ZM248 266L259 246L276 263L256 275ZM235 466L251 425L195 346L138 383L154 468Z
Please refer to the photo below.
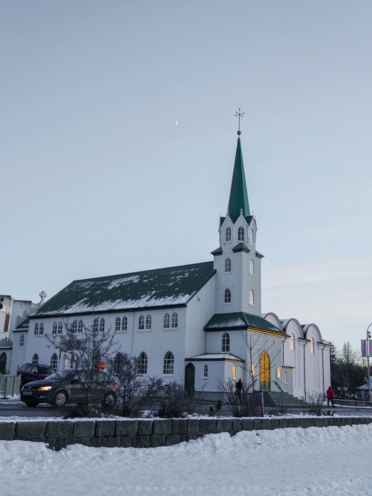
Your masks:
M249 211L240 136L227 213L220 218L218 231L220 247L212 251L217 271L215 312L260 315L263 255L256 250L257 226Z

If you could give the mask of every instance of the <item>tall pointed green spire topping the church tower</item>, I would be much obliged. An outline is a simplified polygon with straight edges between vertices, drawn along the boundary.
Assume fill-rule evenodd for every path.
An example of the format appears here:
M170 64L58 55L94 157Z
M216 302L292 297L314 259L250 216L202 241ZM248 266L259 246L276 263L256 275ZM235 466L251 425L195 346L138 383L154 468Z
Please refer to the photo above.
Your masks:
M235 154L235 164L233 180L231 182L230 189L228 214L233 218L234 222L236 222L241 212L243 212L244 217L248 217L250 215L246 176L244 174L242 146L240 144L239 137L237 152Z

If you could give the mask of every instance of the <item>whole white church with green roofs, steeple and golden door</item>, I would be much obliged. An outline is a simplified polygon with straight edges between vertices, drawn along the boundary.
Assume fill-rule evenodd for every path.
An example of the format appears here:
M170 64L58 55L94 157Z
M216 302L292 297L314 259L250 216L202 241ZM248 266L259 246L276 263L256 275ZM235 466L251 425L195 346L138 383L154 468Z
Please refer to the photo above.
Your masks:
M73 281L20 322L13 350L23 348L24 363L63 369L64 354L48 348L44 335L63 332L66 320L83 332L99 316L100 326L116 332L121 352L141 356L141 372L182 379L211 400L220 397L220 381L249 385L252 376L255 389L296 397L325 391L331 346L318 327L261 313L256 234L239 137L212 261ZM12 356L12 368L19 360L19 353Z

